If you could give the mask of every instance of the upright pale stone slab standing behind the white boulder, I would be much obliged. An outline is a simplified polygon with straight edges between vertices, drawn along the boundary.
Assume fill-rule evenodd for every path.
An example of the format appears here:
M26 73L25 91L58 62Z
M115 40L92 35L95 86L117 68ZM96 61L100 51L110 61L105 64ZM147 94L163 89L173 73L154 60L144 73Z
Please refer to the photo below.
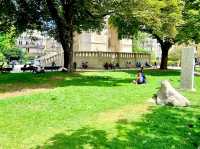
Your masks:
M181 59L181 88L194 90L194 47L187 47L182 50Z

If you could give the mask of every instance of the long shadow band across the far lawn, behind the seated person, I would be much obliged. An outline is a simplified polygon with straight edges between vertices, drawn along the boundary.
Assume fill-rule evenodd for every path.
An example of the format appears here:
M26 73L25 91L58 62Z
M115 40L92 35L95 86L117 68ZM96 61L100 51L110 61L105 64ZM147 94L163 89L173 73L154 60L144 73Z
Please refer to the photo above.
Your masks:
M109 75L85 76L81 73L51 72L45 74L19 73L0 75L0 93L15 92L24 89L52 89L64 86L120 86L132 82L136 70L122 71L130 74L130 78L115 78ZM100 73L100 72L99 72ZM177 76L177 71L145 70L147 76ZM131 78L131 76L133 76Z

